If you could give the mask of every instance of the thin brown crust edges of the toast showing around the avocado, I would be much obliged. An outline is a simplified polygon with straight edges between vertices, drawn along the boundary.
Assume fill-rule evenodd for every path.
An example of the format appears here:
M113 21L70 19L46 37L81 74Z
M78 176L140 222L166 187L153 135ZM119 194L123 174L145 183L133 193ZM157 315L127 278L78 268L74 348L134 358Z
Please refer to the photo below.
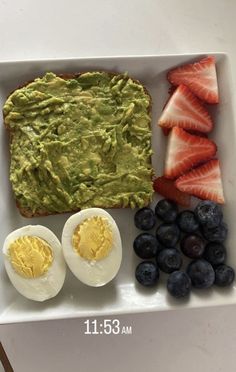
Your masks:
M97 71L97 70L96 70ZM58 77L60 77L61 79L64 79L64 80L69 80L69 79L75 79L75 78L78 78L79 76L83 75L83 74L86 74L88 72L93 72L93 71L83 71L83 72L76 72L76 73L59 73L59 74L56 74ZM98 70L98 72L106 72L107 74L111 75L111 76L116 76L116 75L121 75L122 76L122 73L116 73L116 72L112 72L112 71L106 71L106 70ZM124 75L125 76L125 75ZM148 106L148 109L147 109L147 113L148 115L151 116L151 111L152 111L152 97L149 93L149 91L147 90L147 88L137 79L133 79L131 78L130 76L128 76L129 79L131 79L133 82L141 85L144 89L144 92L146 93L146 95L149 97L149 106ZM30 81L27 81L21 85L19 85L15 90L18 90L18 89L21 89L23 87L26 87L28 84L32 83L34 80L30 80ZM14 90L14 91L15 91ZM10 92L10 94L8 95L8 97L14 92ZM11 138L12 138L12 133L11 133L11 130L9 129L9 127L6 125L5 123L5 115L3 113L3 119L4 119L4 126L5 128L7 129L8 133L9 133L9 138L10 138L10 142L11 142ZM151 159L150 159L150 162L151 162ZM81 208L77 208L77 209L74 209L74 210L69 210L69 211L65 211L65 212L49 212L45 209L38 209L37 211L33 212L30 208L24 208L22 207L18 200L15 199L15 202L16 202L16 207L18 208L20 214L23 216L23 217L26 217L26 218L32 218L32 217L45 217L45 216L50 216L50 215L58 215L58 214L66 214L66 213L76 213L76 212L79 212L81 210ZM145 202L145 205L148 205L149 204L149 200L147 199L146 202ZM123 207L121 205L117 205L115 207L110 207L110 206L101 206L100 208L103 208L103 209L119 209L119 208L129 208L129 206L127 207Z

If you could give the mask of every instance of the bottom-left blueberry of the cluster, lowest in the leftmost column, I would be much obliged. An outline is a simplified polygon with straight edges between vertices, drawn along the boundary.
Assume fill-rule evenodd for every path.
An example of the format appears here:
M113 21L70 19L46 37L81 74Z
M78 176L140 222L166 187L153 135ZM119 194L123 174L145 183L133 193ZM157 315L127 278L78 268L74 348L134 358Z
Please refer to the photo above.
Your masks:
M158 267L151 261L143 261L136 267L135 277L140 284L153 286L159 279Z

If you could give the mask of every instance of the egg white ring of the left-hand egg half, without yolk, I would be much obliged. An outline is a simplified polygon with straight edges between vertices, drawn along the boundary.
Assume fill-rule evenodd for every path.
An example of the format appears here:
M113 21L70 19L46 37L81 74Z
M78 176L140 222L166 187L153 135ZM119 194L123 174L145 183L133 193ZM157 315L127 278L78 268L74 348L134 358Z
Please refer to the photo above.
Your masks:
M52 249L53 261L48 271L38 278L23 278L12 267L8 248L17 238L28 235L45 240ZM28 225L10 233L3 245L4 264L9 279L16 290L24 297L34 301L45 301L58 294L66 276L66 264L61 243L51 230L41 225Z

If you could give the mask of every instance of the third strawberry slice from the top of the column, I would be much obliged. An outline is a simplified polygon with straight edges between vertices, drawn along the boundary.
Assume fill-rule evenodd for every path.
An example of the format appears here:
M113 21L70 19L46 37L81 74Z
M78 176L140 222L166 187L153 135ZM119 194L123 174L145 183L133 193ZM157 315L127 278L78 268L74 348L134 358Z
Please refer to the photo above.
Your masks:
M211 159L216 150L216 144L208 138L174 127L168 137L164 176L177 178L193 166Z

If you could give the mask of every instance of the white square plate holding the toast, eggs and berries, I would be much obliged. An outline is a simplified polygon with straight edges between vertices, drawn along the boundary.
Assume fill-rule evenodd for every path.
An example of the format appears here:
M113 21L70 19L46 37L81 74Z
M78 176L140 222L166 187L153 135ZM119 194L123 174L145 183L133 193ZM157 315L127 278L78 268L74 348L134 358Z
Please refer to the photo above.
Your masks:
M220 89L220 104L212 107L215 121L212 138L218 145L218 156L222 164L223 184L226 195L225 220L229 225L227 240L228 262L236 268L236 127L231 100L231 77L228 57L214 54ZM167 99L166 72L176 65L196 61L205 55L168 55L144 57L113 57L67 60L17 61L0 63L0 104L17 86L44 74L45 71L79 72L83 70L127 71L139 79L153 98L153 166L156 174L162 173L166 139L156 122ZM1 119L2 121L2 119ZM67 215L25 219L20 216L13 201L8 181L8 136L1 123L0 164L0 216L1 246L6 235L27 224L42 224L49 227L59 238ZM67 272L65 285L60 294L44 303L29 301L18 294L10 284L2 260L0 266L0 323L25 322L58 318L88 317L98 315L194 308L236 303L236 287L228 290L210 289L194 291L189 301L170 299L165 288L165 278L157 288L141 288L135 283L134 271L139 259L133 253L132 243L138 231L133 224L134 211L109 211L117 221L123 240L123 262L121 270L110 284L91 288L76 280Z

